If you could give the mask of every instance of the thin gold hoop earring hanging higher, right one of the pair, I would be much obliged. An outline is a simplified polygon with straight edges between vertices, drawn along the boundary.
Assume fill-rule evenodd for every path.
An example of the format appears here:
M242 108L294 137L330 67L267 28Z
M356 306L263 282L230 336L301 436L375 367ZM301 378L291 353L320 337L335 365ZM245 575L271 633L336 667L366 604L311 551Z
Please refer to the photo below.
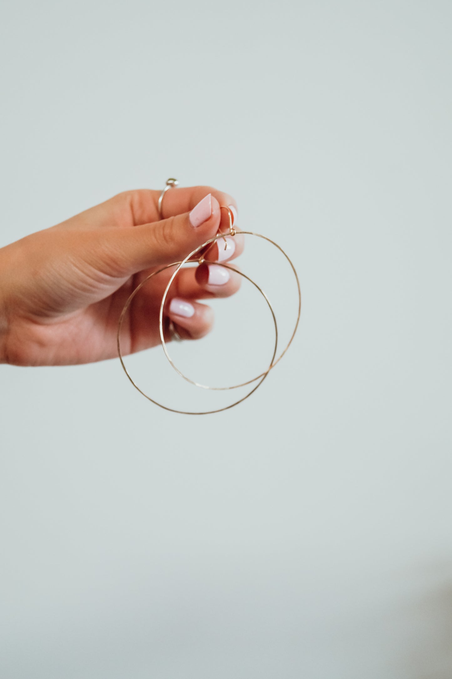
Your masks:
M236 235L236 231L233 230L233 228L232 228L232 220L231 220L231 214L230 214L231 211L229 210L229 208L225 208L225 209L228 210L228 212L229 212L229 230L230 230L231 236L235 236L235 235ZM162 303L160 304L160 313L159 313L159 331L160 331L160 340L161 340L161 342L162 342L162 346L163 346L163 350L164 350L164 352L165 352L166 358L168 359L168 361L170 362L170 364L172 365L172 367L174 368L174 370L176 371L176 373L178 373L178 375L181 376L181 378L183 378L186 382L189 382L189 384L193 384L193 386L197 386L197 387L199 387L199 388L201 388L201 389L208 389L208 390L211 390L211 391L227 391L227 390L229 390L229 389L238 389L238 388L240 388L240 387L242 387L242 386L246 386L247 384L252 384L252 382L256 382L257 380L259 380L260 378L262 378L264 375L267 375L267 374L269 373L269 371L270 371L271 369L273 369L277 363L279 363L279 361L282 359L282 356L284 356L284 354L285 354L286 351L288 350L290 344L292 344L292 340L293 340L293 338L295 337L295 333L297 332L297 328L298 328L298 324L299 324L299 320L300 320L300 315L301 315L301 289L300 289L300 282L299 282L299 278L298 278L297 272L296 272L296 270L295 270L295 267L294 267L292 261L290 261L288 255L286 255L286 253L284 252L284 250L282 249L282 247L280 247L280 246L278 245L278 243L274 242L274 240L271 240L271 238L267 238L267 236L262 236L261 234L255 234L254 232L251 232L251 231L240 231L240 232L238 232L238 233L244 234L244 235L247 235L247 236L256 236L257 238L263 238L263 240L267 240L269 243L271 243L272 245L274 245L275 247L277 247L278 250L280 250L280 252L284 255L284 257L286 257L288 263L290 264L290 267L292 268L292 270L293 270L293 272L294 272L294 274L295 274L295 280L297 281L298 300L299 300L299 301L298 301L297 321L296 321L296 323L295 323L295 328L294 328L294 330L293 330L293 333L292 333L292 335L290 336L290 339L289 339L288 343L286 344L286 347L285 347L284 350L281 352L280 356L278 356L278 359L276 359L276 361L274 361L273 363L271 363L271 365L267 368L266 371L264 371L264 372L261 373L260 375L257 375L257 377L252 378L251 380L247 380L247 382L242 382L241 384L233 384L232 386L208 386L207 384L200 384L200 382L195 382L195 380L191 380L190 378L187 377L187 375L184 375L184 373L183 373L181 370L179 370L178 367L175 365L174 361L172 361L172 358L171 358L171 356L170 356L170 354L169 354L169 352L168 352L168 348L166 347L166 342L165 342L165 337L164 337L164 331L163 331L163 310L164 310L164 305L165 305L166 297L167 297L167 295L168 295L168 291L169 291L169 289L170 289L170 287L171 287L171 285L172 285L172 282L174 281L174 278L176 278L178 272L181 270L181 268L183 267L183 265L184 265L185 263L187 263L188 261L191 261L191 257L193 257L193 256L194 256L197 252L199 252L200 250L204 249L205 246L208 246L209 244L212 244L212 243L216 242L216 240L219 240L219 238L224 238L225 234L217 234L214 238L210 238L210 240L206 240L206 242L205 242L204 244L200 245L200 246L197 247L195 250L193 250L193 252L191 252L189 255L187 255L187 257L185 257L185 259L183 259L183 261L181 261L181 263L178 265L178 267L176 268L176 270L173 272L173 274L172 274L170 280L168 281L168 285L166 286L164 295L163 295L163 297L162 297ZM204 259L204 257L201 257L201 258L200 258L199 260L197 260L197 261L199 261L199 263L217 264L217 265L223 266L223 267L225 267L225 268L227 268L227 269L230 269L230 268L231 268L231 267L229 267L229 266L227 266L227 265L225 265L225 264L223 264L223 263L221 263L221 262L208 261L208 260ZM236 272L237 272L236 269L233 269L233 271L236 271ZM240 272L237 272L237 273L240 273ZM248 276L246 276L246 278L248 278ZM248 280L251 280L251 279L248 278ZM251 282L254 283L254 281L252 281L252 280L251 280ZM254 283L254 285L256 285L256 284ZM267 295L265 295L265 293L259 288L259 286L257 286L257 287L258 287L258 289L261 291L261 293L264 295L265 299L267 299L267 302L269 303Z

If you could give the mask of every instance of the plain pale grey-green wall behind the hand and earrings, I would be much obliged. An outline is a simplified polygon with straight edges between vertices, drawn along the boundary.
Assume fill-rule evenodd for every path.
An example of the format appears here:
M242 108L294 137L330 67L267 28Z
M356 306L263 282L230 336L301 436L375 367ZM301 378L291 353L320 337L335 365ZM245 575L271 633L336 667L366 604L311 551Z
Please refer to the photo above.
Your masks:
M1 367L2 679L450 678L451 32L446 1L3 3L1 244L175 176L287 249L303 313L206 418L117 361Z

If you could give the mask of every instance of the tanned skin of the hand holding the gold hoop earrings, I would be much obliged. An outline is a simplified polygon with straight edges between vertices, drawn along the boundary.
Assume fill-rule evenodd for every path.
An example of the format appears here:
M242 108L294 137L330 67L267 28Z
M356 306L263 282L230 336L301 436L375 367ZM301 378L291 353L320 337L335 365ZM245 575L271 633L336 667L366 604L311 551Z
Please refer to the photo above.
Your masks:
M212 214L194 228L189 212L209 193ZM126 191L0 249L1 363L72 365L117 356L119 314L132 290L151 272L183 259L218 232L227 233L227 212L220 206L236 207L231 196L210 187L171 189L159 219L159 195ZM237 257L244 236L234 239ZM214 244L206 259L217 257ZM122 327L124 355L159 344L159 306L173 270L152 278L134 297ZM206 265L182 270L164 310L166 335L169 320L184 339L206 335L213 312L197 300L232 295L240 282L231 272L225 285L208 285ZM191 318L171 314L173 297L193 305Z

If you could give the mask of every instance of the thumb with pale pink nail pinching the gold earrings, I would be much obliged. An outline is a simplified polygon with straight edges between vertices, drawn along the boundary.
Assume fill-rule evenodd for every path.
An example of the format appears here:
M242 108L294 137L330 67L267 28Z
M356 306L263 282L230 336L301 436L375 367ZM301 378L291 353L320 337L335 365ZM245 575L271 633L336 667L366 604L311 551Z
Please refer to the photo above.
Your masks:
M208 194L189 213L131 228L109 229L109 236L107 230L99 230L96 238L100 253L105 254L105 262L111 265L115 275L131 276L184 259L196 247L214 238L220 221L220 204Z

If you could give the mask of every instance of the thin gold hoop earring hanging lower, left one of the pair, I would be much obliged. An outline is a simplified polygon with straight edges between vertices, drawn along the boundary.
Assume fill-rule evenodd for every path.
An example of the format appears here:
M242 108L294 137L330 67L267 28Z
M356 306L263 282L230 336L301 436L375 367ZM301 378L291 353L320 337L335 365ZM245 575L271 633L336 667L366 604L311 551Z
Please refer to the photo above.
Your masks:
M219 236L217 236L216 238L223 238L223 236L219 235ZM216 238L213 238L213 239L211 239L211 240L216 240ZM204 245L208 244L209 242L210 242L210 241L206 242ZM203 246L201 246L201 247L203 247ZM190 256L191 256L191 255L189 255L189 257L190 257ZM140 392L140 394L142 394L148 401L151 401L151 403L154 403L155 405L158 405L160 408L163 408L164 410L168 410L168 411L170 411L170 412L172 412L172 413L179 413L179 414L181 414L181 415L212 415L212 414L214 414L214 413L221 413L223 410L229 410L230 408L233 408L235 405L238 405L239 403L242 403L242 401L245 401L245 399L248 399L248 397L250 397L251 394L253 394L253 393L257 390L257 388L259 388L259 386L261 386L262 382L265 380L265 378L267 377L269 371L271 370L271 367L273 367L273 366L275 365L275 364L274 364L274 360L275 360L275 356L276 356L276 351L277 351L277 349L278 349L278 323L276 323L276 316L275 316L275 314L274 314L274 310L273 310L273 308L272 308L272 306L271 306L271 304L270 304L270 301L269 301L267 295L265 295L265 292L259 287L259 285L257 285L257 283L255 283L254 280L252 280L251 278L249 278L249 276L246 276L246 274L244 274L244 273L241 272L241 271L237 271L236 269L233 269L231 266L228 266L227 264L222 264L222 266L225 267L226 269L231 269L232 271L235 271L237 274L240 274L240 276L243 276L243 278L246 278L246 280L249 280L249 282L252 283L252 285L254 285L254 286L259 290L259 292L261 293L261 295L263 295L263 297L265 298L265 301L267 302L267 305L269 306L269 310L270 310L270 312L271 312L271 316L272 316L272 318L273 318L273 320L274 320L274 325L275 325L275 346L274 346L273 356L271 356L271 362L270 362L269 368L267 369L267 371L265 371L265 373L262 373L262 375L261 375L261 378L262 378L261 381L258 382L257 385L256 385L255 387L253 387L247 394L245 394L245 396L242 397L242 399L238 399L238 401L235 401L234 403L230 403L229 405L226 405L226 406L223 407L223 408L217 408L216 410L206 410L206 411L200 411L200 412L198 412L198 411L187 411L187 410L178 410L178 409L176 409L176 408L170 408L170 407L168 407L168 406L166 406L166 405L163 405L162 403L159 403L158 401L155 401L155 399L151 399L151 397L150 397L148 394L146 394L142 389L140 389L140 387L134 382L134 380L132 380L132 377L130 376L130 374L129 374L129 372L128 372L128 369L126 368L126 365L124 364L124 359L123 359L122 354L121 354L121 340L120 340L121 328L122 328L122 324L124 323L124 318L125 318L125 316L126 316L126 313L127 313L127 311L128 311L128 308L130 307L130 304L131 304L131 302L132 302L132 299L134 299L134 297L135 297L135 295L138 293L138 291L140 291L140 289L141 289L144 285L146 285L146 283L147 283L151 278L153 278L153 276L157 276L157 274L160 274L160 273L162 273L163 271L165 271L166 269L169 269L169 268L171 268L171 267L173 267L173 266L177 266L177 270L179 271L179 270L181 269L181 266L183 266L184 263L187 263L187 260L189 259L189 257L186 257L186 259L183 260L183 261L176 261L176 262L173 262L172 264L167 264L166 266L162 267L161 269L159 269L159 270L153 272L152 274L149 274L149 276L147 276L147 278L145 278L145 280L143 280L142 282L140 282L140 285L138 285L138 286L134 289L134 291L132 292L132 294L129 295L129 297L128 297L127 301L126 301L126 304L124 304L124 308L123 308L123 310L121 311L121 316L119 316L119 323L118 323L118 325L117 325L117 335L116 335L117 353L118 353L118 356L119 356L119 361L121 361L122 369L124 370L124 372L125 372L126 375L128 376L130 382L132 382L132 384L133 384L133 386L136 388L136 390L138 390L138 391ZM168 291L166 291L166 292L168 292ZM160 307L160 314L159 314L160 337L163 336L162 309L163 309L163 308L162 308L162 306L161 306L161 307ZM165 345L164 345L164 346L165 346ZM170 360L170 359L169 359L169 360ZM170 363L171 363L171 360L170 360ZM178 372L179 374L181 374L181 375L185 378L185 375L183 375L182 373L180 373L180 371L174 366L174 364L172 364L172 365L173 365L174 369L176 370L176 372ZM259 378L258 378L258 379L259 379ZM188 382L191 381L191 380L188 380L188 378L185 378L185 380L187 380ZM252 381L255 382L256 380L252 380Z

